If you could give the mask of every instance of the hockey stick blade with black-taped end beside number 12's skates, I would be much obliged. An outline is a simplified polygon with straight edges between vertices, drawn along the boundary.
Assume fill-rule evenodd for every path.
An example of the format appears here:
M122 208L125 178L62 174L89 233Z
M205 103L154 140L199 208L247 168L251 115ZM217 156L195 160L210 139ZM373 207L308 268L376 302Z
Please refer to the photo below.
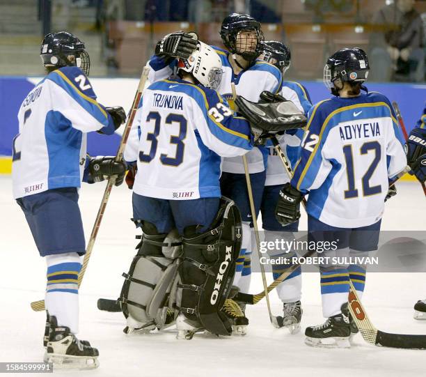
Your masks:
M349 280L349 311L363 339L374 346L405 349L426 349L426 335L390 334L377 330L359 300L354 284Z

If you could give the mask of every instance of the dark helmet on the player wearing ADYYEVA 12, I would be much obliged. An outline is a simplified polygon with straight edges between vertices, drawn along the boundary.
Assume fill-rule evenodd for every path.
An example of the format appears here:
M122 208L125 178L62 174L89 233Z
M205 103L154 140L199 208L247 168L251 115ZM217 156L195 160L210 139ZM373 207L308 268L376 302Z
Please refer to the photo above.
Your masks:
M369 71L370 64L363 49L358 47L339 49L327 59L324 66L324 84L329 89L333 87L342 89L344 82L362 84L367 79Z

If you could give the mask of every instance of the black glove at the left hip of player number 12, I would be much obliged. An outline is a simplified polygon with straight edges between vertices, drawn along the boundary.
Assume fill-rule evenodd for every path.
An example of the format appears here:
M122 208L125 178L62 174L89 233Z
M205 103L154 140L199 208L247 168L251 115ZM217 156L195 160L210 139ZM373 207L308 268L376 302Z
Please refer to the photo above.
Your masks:
M292 224L299 220L302 198L302 193L292 187L290 183L283 185L275 207L275 217L281 225Z

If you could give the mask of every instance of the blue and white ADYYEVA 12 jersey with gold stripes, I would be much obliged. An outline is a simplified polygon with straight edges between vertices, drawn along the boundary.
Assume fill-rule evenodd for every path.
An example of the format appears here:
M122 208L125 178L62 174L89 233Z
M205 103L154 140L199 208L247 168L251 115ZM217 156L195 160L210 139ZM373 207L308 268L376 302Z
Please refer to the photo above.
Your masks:
M317 103L301 146L291 184L309 192L309 215L341 228L381 219L388 179L407 166L388 98L372 92Z

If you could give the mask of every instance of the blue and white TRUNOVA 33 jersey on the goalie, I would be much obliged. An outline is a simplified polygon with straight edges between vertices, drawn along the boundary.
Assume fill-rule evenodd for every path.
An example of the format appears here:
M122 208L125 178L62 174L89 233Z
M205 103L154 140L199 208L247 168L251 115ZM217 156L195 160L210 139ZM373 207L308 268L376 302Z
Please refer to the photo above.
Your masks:
M136 194L159 199L220 197L221 156L250 151L250 126L216 91L164 79L143 92L125 160L136 162Z

